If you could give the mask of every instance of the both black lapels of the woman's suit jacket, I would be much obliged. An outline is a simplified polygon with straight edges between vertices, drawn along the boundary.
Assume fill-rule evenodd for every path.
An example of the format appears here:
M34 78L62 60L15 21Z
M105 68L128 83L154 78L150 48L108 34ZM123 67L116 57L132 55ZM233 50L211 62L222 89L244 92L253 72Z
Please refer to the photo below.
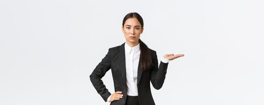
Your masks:
M126 42L125 42L126 43ZM123 83L126 84L126 56L125 56L125 43L120 45L119 47L119 52L118 52L118 58L119 58L119 64L120 64L120 70L123 78ZM140 68L140 59L141 59L141 54L139 56L139 62L138 62L138 79L137 79L137 85L139 83L139 80L142 75L142 70Z

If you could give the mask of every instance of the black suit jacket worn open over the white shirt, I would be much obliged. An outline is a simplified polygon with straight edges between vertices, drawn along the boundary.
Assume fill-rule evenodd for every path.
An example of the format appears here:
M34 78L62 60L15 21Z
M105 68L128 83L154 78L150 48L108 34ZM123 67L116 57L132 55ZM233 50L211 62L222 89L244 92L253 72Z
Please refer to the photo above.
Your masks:
M154 66L151 70L142 72L140 68L140 57L138 63L138 100L140 105L155 105L151 89L150 82L155 89L160 89L164 83L166 70L168 63L160 62L158 67L158 59L156 51L151 50L152 62ZM141 55L140 55L141 56ZM110 105L125 105L127 98L126 90L126 65L125 65L125 43L120 46L112 47L108 49L107 55L102 61L95 67L94 71L90 75L90 79L94 88L101 95L104 101L111 95L106 86L103 84L101 78L108 70L112 70L114 88L116 91L122 91L123 97L119 100L115 100Z

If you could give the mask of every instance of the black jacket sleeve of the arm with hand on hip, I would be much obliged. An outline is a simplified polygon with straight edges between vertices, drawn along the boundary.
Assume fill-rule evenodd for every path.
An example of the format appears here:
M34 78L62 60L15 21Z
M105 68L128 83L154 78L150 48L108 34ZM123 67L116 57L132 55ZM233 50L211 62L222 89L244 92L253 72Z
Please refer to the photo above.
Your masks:
M95 67L94 71L90 75L90 80L94 85L97 93L101 95L103 100L106 102L107 98L111 95L106 86L103 84L102 77L111 68L111 53L110 48L108 49L107 55L102 61Z

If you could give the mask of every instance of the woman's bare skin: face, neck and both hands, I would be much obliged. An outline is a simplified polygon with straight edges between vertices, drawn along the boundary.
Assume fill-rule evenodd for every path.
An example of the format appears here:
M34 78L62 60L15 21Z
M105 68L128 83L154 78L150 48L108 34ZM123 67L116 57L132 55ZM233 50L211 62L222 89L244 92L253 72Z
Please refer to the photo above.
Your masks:
M141 24L138 21L137 18L133 17L133 18L129 18L125 21L124 27L122 26L122 32L124 33L124 36L126 38L126 43L130 46L130 47L134 47L136 45L138 45L139 43L139 37L140 34L143 33L144 28L141 28ZM135 37L135 38L130 38L131 36ZM169 59L170 61L179 57L184 56L184 54L166 54L163 57L166 59ZM122 98L122 91L116 91L115 93L113 93L110 97L109 102L113 102L115 100L119 100L120 98Z

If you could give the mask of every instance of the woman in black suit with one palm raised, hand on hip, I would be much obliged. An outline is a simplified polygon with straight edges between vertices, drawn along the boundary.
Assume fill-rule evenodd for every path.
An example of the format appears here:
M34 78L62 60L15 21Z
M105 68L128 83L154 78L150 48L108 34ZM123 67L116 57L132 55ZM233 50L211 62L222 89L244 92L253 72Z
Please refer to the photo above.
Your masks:
M168 62L184 56L166 54L158 67L156 51L148 48L139 38L143 19L138 13L128 13L122 23L126 42L108 49L107 55L90 75L94 88L110 105L155 105L150 82L160 89L167 73ZM151 38L153 36L149 36ZM112 71L115 93L111 94L101 78Z

